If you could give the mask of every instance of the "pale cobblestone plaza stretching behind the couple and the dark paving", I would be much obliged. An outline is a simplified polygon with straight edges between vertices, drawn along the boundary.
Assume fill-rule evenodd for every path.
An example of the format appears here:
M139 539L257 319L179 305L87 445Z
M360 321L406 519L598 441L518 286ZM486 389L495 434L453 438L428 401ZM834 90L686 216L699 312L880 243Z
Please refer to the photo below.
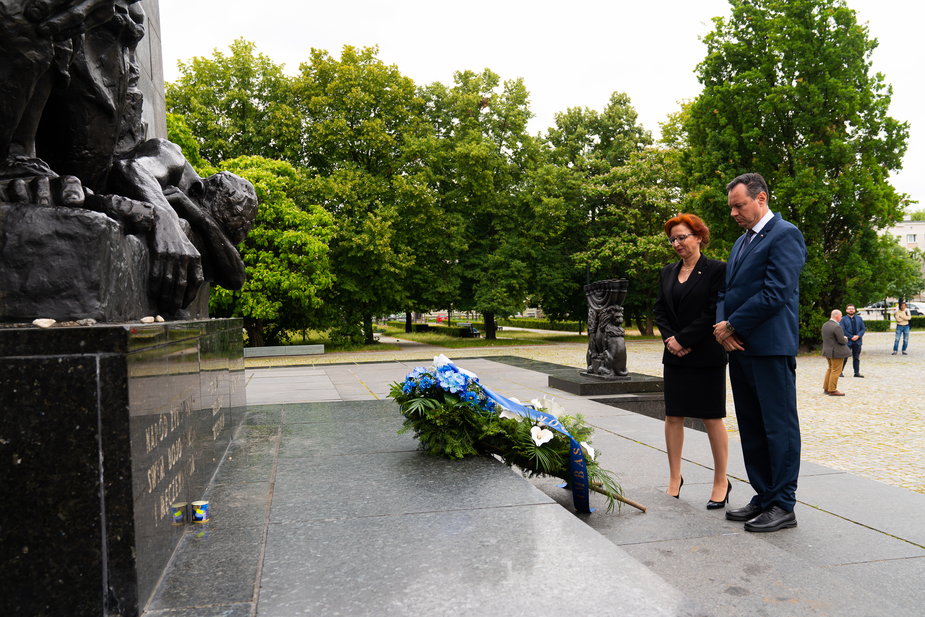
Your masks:
M801 356L797 363L797 402L803 435L803 459L925 494L925 336L913 332L909 355L891 355L892 332L865 337L861 356L864 379L839 380L843 398L822 394L825 361ZM584 367L584 344L445 349L404 341L400 351L333 353L323 356L248 361L249 367L429 360L437 353L451 358L513 355L564 366ZM629 341L629 369L661 375L659 341ZM727 427L737 434L732 392L728 392Z

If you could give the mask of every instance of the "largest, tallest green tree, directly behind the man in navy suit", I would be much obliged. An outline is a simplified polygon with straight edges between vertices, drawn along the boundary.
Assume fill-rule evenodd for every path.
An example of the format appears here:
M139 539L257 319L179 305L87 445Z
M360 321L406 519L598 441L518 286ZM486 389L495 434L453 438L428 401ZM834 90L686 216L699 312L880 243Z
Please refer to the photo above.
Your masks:
M888 115L892 96L871 72L877 42L842 0L730 0L714 19L698 66L703 92L684 114L686 186L695 211L728 249L741 230L724 185L757 171L771 209L796 224L808 259L801 334L817 336L821 307L841 306L848 264L870 259L875 229L902 213L890 185L908 126Z

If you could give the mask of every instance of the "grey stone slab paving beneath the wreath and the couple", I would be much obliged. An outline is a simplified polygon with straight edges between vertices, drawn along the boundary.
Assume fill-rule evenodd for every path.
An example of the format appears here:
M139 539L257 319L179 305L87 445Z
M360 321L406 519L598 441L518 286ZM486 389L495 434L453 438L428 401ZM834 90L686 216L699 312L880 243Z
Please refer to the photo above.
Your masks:
M502 394L584 414L602 464L648 511L575 515L556 482L416 451L385 397L420 362L251 370L213 521L188 530L145 617L922 615L925 496L804 461L799 526L746 533L704 508L704 434L687 432L673 499L660 421L510 361L459 363ZM733 506L752 494L737 445Z

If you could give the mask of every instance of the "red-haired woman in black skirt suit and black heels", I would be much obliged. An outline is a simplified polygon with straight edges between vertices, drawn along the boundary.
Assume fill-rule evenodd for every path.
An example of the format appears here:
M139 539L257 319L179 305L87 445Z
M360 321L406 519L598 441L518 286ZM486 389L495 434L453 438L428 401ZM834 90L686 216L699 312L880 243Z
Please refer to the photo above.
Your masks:
M726 264L707 259L700 249L710 243L710 230L693 214L679 214L665 223L668 242L681 261L662 268L655 323L665 342L665 445L668 450L668 490L681 493L681 450L684 418L700 418L713 452L713 490L708 509L729 502L732 485L726 478L729 437L726 417L726 352L713 337L716 297Z

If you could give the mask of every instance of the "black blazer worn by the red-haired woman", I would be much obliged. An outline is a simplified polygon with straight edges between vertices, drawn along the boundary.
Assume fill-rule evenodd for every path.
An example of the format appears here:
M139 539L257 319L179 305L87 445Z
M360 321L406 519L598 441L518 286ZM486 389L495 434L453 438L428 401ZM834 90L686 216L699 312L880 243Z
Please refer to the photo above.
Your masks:
M666 348L662 363L675 366L722 366L726 364L726 351L713 338L716 323L716 297L723 286L726 262L700 257L687 282L678 307L671 300L671 283L677 284L681 262L662 268L659 278L658 300L655 302L655 323L662 340L674 336L691 353L683 358L671 354Z

